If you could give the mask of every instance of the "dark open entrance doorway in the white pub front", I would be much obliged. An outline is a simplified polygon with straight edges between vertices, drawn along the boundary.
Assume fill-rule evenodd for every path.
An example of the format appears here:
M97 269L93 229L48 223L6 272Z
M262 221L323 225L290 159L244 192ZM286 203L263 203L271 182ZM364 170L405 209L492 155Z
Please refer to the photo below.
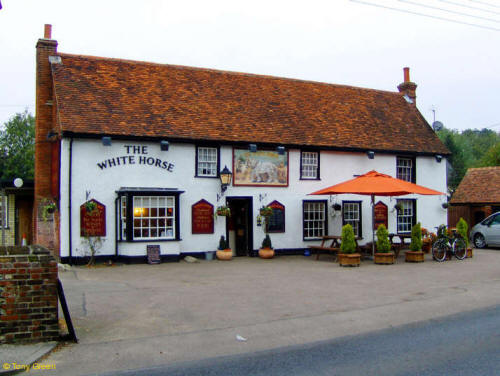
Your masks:
M236 256L249 256L253 250L252 197L228 197L231 216L226 221L229 246Z

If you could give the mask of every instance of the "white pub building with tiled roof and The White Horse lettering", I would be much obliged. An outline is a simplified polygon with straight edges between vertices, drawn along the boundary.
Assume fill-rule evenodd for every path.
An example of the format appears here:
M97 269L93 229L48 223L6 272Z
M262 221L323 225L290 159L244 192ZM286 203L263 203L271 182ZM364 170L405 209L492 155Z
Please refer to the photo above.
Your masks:
M278 253L301 253L345 223L369 241L369 198L308 194L373 169L446 191L449 152L417 109L416 86L408 68L388 92L66 54L46 25L35 200L38 212L57 209L36 218L37 241L70 262L88 254L88 236L102 240L101 257L145 260L156 247L178 260L215 250L221 235L235 255L253 255L263 206ZM382 198L379 220L394 233L438 226L441 200ZM229 217L214 216L225 208Z

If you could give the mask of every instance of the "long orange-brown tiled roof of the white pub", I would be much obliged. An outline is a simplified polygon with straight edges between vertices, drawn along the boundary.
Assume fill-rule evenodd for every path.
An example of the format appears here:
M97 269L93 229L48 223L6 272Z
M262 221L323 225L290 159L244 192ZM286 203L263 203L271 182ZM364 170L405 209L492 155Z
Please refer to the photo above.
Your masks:
M63 132L448 154L396 92L59 55Z

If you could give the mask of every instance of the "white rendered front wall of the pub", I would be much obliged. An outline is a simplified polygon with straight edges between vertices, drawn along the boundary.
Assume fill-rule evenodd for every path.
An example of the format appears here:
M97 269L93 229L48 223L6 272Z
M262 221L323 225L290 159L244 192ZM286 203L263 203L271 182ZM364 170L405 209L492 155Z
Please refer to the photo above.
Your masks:
M69 256L69 201L68 201L68 170L69 170L69 140L61 143L61 256ZM172 172L154 166L126 164L101 169L97 163L110 158L128 155L125 145L146 146L147 157L168 161L174 166ZM226 234L224 217L215 221L214 234L191 234L191 206L201 199L210 202L214 207L225 204L226 197L253 197L253 248L258 249L264 238L262 227L256 224L258 209L274 200L285 206L285 233L271 234L273 246L278 249L305 248L318 241L303 241L302 239L302 202L303 200L328 200L329 234L341 232L342 218L340 212L333 216L331 205L344 200L362 201L363 241L371 241L371 205L369 196L339 195L309 196L308 193L352 179L354 175L364 174L370 170L396 176L396 155L376 154L375 159L368 159L365 153L347 153L322 151L320 153L321 180L300 180L300 150L289 152L289 186L288 187L234 187L229 186L224 198L217 202L220 193L220 180L195 177L195 145L170 144L168 151L161 151L159 142L128 142L113 140L112 146L103 146L100 140L75 139L73 141L72 158L72 256L83 256L86 246L80 237L79 207L85 202L85 192L91 192L91 198L106 205L106 237L99 255L115 253L115 199L120 187L144 188L176 188L185 193L179 197L180 241L119 242L119 255L142 256L146 254L146 245L160 244L162 254L176 255L185 252L204 252L215 250L220 235ZM232 147L222 146L220 150L221 169L227 165L232 171ZM138 157L138 155L136 156ZM437 163L434 157L417 157L417 184L446 192L446 163ZM265 194L262 202L259 194ZM417 221L423 227L433 229L441 223L446 223L446 211L441 207L444 196L401 196L398 198L417 199ZM396 198L377 197L389 208L389 232L397 232L396 213L391 209Z

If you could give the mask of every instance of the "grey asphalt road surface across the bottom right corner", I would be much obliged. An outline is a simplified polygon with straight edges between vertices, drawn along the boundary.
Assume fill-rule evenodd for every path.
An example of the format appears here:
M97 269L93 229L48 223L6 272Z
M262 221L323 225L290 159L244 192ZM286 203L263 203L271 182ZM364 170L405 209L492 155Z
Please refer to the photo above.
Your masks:
M367 335L105 373L159 375L499 375L500 306Z

